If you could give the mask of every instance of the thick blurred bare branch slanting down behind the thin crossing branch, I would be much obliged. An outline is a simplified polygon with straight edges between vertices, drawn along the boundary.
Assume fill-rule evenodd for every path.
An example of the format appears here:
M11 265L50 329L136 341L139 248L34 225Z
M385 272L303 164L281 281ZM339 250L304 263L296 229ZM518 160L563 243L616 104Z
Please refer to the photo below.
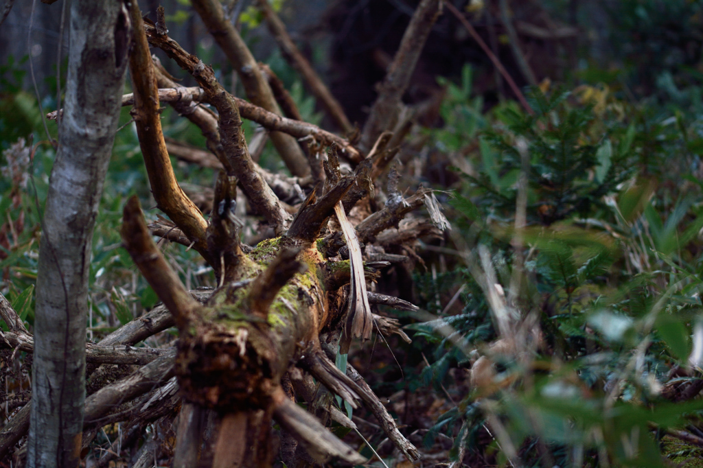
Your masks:
M262 77L257 61L254 60L252 53L232 22L226 18L219 0L194 0L193 8L198 12L207 30L237 70L247 98L255 105L280 115L271 88ZM291 174L299 177L307 176L309 167L295 138L273 131L271 132L271 141Z

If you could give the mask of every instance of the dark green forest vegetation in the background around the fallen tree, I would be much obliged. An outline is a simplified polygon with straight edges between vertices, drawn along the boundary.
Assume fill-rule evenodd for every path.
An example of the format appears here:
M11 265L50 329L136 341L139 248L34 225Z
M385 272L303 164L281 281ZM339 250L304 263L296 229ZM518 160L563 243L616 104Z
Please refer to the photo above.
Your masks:
M331 126L249 2L231 3L254 55L284 80L304 118ZM417 2L273 3L361 126ZM378 339L353 348L349 361L422 447L423 466L697 466L703 455L697 396L703 362L702 2L505 2L538 86L529 86L517 65L501 2L452 3L535 113L520 108L486 54L445 9L404 98L423 111L398 158L402 188L436 188L453 229L443 240L398 246L394 253L412 251L412 264L378 279L378 291L423 309L400 315L413 343ZM162 4L169 34L212 63L221 82L241 96L231 65L188 1ZM157 5L146 1L142 8L151 14ZM27 145L47 138L27 59L32 56L42 108L54 110L56 6L37 8L30 31L32 2L17 2L0 27L0 290L28 325L37 210L46 198L53 150L39 145L30 159L28 148L12 148L19 138ZM161 58L184 86L193 86ZM122 112L128 123L128 110ZM170 110L163 122L166 136L205 147L200 132ZM254 125L246 125L248 136ZM48 131L56 136L53 122ZM262 165L285 170L271 147ZM176 171L189 193L212 186L211 169L179 162ZM527 228L516 244L521 174L527 178ZM136 132L127 125L115 140L93 241L89 339L157 301L120 248L121 210L132 193L150 200ZM202 199L207 211L207 194ZM153 205L144 207L155 217ZM213 285L212 271L195 252L173 244L163 249L186 287ZM496 333L496 304L486 299L486 288L494 287L486 280L491 271L508 306L524 318L525 336L512 343L518 351L501 348L509 337ZM159 346L169 335L150 340ZM30 356L10 360L10 354L1 354L3 422L27 401L30 387ZM490 370L480 373L476 364L486 362ZM363 412L354 417L389 466L409 463L392 452L373 419ZM105 428L96 446L118 430ZM154 429L164 447L169 430Z

